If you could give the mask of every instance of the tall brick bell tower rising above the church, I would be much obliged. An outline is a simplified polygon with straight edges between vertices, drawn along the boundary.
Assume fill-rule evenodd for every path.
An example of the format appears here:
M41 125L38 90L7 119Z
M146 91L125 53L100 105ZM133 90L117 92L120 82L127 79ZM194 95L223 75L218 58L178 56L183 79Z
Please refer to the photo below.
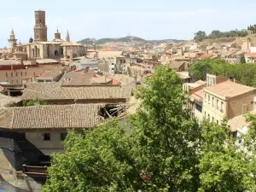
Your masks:
M35 11L34 41L47 41L47 26L45 25L45 11Z

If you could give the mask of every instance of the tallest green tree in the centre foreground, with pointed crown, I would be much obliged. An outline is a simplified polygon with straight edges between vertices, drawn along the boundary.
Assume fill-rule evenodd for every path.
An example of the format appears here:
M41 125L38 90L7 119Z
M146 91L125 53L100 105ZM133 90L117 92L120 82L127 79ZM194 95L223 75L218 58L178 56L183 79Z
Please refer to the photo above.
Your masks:
M145 191L196 191L199 163L196 143L200 128L183 110L181 79L168 67L159 67L138 97L142 107L131 120L135 157L148 172Z

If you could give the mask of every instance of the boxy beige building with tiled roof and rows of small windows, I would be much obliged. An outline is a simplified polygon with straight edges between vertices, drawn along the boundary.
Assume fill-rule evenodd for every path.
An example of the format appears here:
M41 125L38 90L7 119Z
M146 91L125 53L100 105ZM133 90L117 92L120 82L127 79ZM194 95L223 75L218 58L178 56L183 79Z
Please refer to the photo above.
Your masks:
M255 89L231 81L208 86L203 90L203 116L212 122L220 123L224 118L253 111Z

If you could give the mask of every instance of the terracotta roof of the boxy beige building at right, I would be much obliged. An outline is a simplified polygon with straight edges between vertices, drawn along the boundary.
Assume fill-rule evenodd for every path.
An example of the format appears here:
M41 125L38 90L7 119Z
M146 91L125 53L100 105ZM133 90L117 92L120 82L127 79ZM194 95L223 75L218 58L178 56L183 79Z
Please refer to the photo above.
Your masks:
M236 84L231 81L224 81L223 83L209 86L204 90L210 90L219 96L234 97L253 91L255 89L253 87L248 87L242 84Z

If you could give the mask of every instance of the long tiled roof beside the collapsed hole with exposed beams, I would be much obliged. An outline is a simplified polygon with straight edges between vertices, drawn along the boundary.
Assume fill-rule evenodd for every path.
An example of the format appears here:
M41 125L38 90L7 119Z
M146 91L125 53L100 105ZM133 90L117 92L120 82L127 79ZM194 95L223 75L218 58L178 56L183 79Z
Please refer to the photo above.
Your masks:
M104 122L98 111L105 105L99 103L0 108L0 127L14 130L92 128Z

